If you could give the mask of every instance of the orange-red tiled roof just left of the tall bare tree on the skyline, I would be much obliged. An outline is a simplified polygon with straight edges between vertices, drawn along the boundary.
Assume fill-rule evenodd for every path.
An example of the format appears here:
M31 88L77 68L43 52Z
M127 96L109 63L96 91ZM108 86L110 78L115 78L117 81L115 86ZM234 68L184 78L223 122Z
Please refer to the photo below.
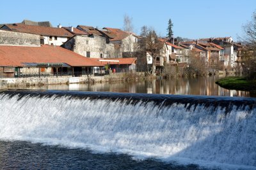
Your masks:
M106 31L102 31L102 32L110 38L109 41L120 41L124 38L127 38L127 36L129 36L127 32L122 31L121 29L115 29L115 28L109 28L109 27L104 27L103 29L106 29Z

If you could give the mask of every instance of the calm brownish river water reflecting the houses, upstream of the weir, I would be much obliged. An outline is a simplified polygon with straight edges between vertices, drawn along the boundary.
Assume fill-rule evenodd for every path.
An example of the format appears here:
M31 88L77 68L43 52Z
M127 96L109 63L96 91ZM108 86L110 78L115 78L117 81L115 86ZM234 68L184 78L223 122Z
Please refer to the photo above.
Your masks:
M26 87L26 89L81 90L93 92L129 92L147 94L185 94L202 96L256 97L256 92L227 90L216 85L217 76L199 78L173 78L171 80L145 80L132 82L113 82L70 85L45 85Z

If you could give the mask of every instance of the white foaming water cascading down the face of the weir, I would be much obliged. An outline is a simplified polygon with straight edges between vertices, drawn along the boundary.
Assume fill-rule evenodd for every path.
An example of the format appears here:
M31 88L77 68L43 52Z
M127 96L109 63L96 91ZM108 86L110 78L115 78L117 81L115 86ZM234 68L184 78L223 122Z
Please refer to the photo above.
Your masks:
M256 169L256 111L69 97L0 96L0 139Z

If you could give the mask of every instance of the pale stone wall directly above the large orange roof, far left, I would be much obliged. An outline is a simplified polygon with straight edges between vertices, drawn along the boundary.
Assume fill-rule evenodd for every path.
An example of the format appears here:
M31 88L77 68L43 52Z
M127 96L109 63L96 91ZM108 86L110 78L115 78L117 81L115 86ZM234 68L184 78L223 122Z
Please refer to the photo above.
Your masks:
M0 30L0 45L40 46L40 36Z

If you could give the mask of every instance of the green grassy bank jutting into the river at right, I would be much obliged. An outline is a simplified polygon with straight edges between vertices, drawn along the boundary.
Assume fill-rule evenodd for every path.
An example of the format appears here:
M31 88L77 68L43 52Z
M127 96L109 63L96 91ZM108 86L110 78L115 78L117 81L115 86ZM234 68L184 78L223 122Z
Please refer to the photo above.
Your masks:
M244 77L226 77L216 81L217 85L230 90L256 91L256 81Z

